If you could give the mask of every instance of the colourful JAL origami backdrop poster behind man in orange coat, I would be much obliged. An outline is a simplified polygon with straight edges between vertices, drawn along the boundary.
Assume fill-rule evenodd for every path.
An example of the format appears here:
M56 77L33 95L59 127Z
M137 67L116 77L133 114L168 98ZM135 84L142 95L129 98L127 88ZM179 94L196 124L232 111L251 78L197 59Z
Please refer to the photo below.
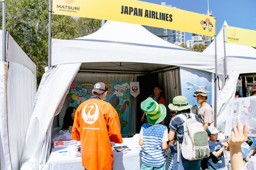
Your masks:
M78 107L92 96L96 82L73 81L69 89L69 106ZM122 137L128 137L129 122L129 82L103 82L108 86L106 102L110 103L119 116Z

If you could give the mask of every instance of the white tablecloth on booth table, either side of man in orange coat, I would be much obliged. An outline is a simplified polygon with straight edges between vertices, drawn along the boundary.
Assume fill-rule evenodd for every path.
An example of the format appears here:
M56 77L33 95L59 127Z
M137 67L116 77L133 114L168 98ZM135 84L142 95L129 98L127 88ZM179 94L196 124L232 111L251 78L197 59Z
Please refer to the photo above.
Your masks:
M141 165L141 156L142 152L141 147L138 142L138 137L129 137L129 138L123 138L122 144L115 144L112 143L112 146L128 146L131 151L126 152L116 152L114 150L114 170L139 170ZM70 152L70 158L58 158L57 152L58 151L65 151L69 150ZM52 149L52 153L50 155L49 160L44 166L44 170L84 170L84 167L82 166L82 159L81 157L75 158L76 150L75 146L70 146L68 148L63 149Z

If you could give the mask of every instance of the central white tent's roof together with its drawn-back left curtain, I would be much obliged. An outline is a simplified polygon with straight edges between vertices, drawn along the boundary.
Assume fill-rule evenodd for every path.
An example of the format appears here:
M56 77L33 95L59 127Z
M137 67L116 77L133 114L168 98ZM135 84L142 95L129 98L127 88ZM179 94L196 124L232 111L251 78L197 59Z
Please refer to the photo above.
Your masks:
M79 79L83 71L101 73L87 74L87 81L98 81L100 78L101 81L113 81L108 74L113 73L111 78L119 76L120 81L127 82L136 80L136 74L143 75L170 66L215 71L214 54L190 51L156 37L143 26L114 21L107 21L88 36L73 40L53 39L52 65L44 73L36 94L21 169L42 169L45 165L50 150L53 117L59 114L71 82L75 77ZM122 72L133 74L123 76L120 75ZM171 74L164 76L169 78ZM172 84L179 84L179 78L175 81L168 82L170 88Z

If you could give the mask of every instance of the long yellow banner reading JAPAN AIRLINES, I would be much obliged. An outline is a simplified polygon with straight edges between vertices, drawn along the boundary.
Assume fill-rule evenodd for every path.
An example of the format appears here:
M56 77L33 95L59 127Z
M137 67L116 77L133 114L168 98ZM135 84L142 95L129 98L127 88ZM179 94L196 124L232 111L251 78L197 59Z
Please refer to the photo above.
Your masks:
M214 17L137 0L52 0L54 14L97 18L214 36Z

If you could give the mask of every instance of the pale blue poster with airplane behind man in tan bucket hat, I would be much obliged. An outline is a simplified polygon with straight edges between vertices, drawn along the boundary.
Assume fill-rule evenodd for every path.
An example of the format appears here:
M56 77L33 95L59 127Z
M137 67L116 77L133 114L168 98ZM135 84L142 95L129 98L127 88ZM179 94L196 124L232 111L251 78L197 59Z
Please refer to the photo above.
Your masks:
M193 94L198 89L204 89L208 96L206 102L212 105L212 73L180 67L180 85L181 94L188 99L188 104L200 106Z

